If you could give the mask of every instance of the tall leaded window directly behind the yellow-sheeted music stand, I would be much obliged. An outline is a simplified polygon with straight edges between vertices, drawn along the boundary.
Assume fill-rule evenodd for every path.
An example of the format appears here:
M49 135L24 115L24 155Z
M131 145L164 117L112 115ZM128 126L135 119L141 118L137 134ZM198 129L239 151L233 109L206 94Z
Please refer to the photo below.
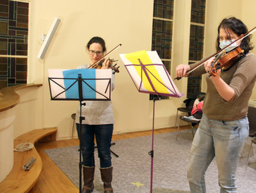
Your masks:
M167 72L170 73L173 36L173 0L154 0L152 50L157 50ZM153 99L150 94L149 99ZM161 99L168 99L161 96Z

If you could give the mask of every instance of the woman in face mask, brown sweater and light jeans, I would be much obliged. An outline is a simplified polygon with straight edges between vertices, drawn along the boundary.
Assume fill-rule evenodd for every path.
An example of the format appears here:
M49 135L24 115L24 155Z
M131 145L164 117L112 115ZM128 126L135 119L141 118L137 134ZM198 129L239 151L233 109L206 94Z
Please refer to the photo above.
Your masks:
M218 27L217 50L243 37L247 28L237 18L226 18ZM238 46L244 53L228 67L216 69L215 75L206 77L207 91L203 104L203 117L198 126L190 151L187 178L192 193L206 192L204 175L216 158L220 192L236 192L236 169L249 134L248 101L256 80L256 56L250 37L244 37L225 49ZM187 74L196 64L180 64L177 77L198 76L211 72L215 58L208 59L195 71Z

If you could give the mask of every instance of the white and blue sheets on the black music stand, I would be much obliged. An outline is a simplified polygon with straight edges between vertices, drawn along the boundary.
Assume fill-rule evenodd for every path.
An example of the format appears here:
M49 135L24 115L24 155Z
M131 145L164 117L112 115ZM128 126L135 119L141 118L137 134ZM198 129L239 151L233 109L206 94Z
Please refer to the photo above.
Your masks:
M48 69L52 99L79 99L78 74L83 99L110 99L111 69Z

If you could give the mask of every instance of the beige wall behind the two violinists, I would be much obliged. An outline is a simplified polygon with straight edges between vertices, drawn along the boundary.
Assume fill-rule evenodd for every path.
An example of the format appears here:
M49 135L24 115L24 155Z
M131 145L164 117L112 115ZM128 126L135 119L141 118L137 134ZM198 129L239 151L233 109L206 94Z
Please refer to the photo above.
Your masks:
M255 4L253 0L221 1L208 0L206 18L206 52L214 53L214 40L217 37L217 26L222 18L234 15L248 25L254 26L255 13L247 6ZM173 23L173 66L187 63L189 46L189 0L175 1ZM47 11L46 11L47 10ZM248 11L249 10L249 11ZM89 62L86 43L93 36L105 39L108 50L119 43L120 48L110 54L118 59L120 73L116 74L116 89L113 91L113 109L116 124L114 133L133 132L152 128L153 103L148 94L140 94L132 83L119 53L131 53L138 50L151 50L151 29L153 0L37 0L31 1L29 30L29 83L42 83L39 88L37 103L37 129L58 126L58 138L71 136L72 119L78 102L50 101L48 88L48 69L75 69L80 64ZM47 34L54 18L61 23L50 43L45 58L37 58L42 45L41 34ZM214 37L214 38L212 38ZM175 82L181 91L187 92L187 79ZM203 89L206 86L203 83ZM186 95L185 95L186 96ZM253 95L255 98L256 96ZM156 102L155 128L174 126L176 108L183 105L181 99L170 99Z

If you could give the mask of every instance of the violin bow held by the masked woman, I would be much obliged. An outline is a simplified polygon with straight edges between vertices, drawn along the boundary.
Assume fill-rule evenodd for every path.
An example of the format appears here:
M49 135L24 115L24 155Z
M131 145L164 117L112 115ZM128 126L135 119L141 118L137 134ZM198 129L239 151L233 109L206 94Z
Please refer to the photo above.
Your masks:
M252 34L252 33L255 32L255 31L256 31L256 26L255 26L253 29L251 29L250 31L247 31L246 34L242 35L241 37L238 37L238 39L236 39L235 41L230 42L230 44L227 45L225 48L222 48L221 50L217 51L217 53L214 53L214 54L212 54L211 56L208 56L207 58L203 59L203 61L200 61L200 63L198 63L197 65L195 65L195 67L192 67L192 69L189 69L189 70L186 72L185 75L189 75L189 73L193 72L195 69L197 69L198 67L202 66L206 61L208 61L208 59L210 59L210 58L212 58L212 57L215 57L215 56L219 56L220 53L224 52L225 49L227 49L227 48L230 47L230 45L233 45L233 43L238 42L238 41L241 40L241 39L244 39L245 37L249 36L249 34ZM185 75L184 75L184 76L185 76ZM184 76L182 76L182 77L184 77ZM181 79L181 77L176 77L176 78L174 78L174 80L180 80L180 79Z

